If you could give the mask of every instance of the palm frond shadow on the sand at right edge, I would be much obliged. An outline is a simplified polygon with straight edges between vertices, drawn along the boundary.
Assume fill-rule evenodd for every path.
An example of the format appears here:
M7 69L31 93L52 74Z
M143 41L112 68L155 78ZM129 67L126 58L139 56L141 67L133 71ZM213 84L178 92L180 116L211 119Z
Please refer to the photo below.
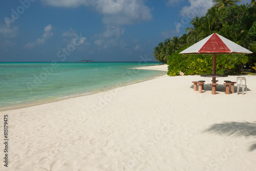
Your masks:
M204 131L204 133L206 132L236 137L256 137L256 121L215 123ZM256 149L256 143L250 146L249 151L254 149Z

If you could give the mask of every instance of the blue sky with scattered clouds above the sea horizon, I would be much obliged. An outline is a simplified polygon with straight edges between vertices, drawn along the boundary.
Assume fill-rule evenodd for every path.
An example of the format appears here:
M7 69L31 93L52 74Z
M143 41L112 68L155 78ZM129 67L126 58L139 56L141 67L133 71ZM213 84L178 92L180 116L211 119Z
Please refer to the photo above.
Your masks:
M250 3L249 0L243 1ZM0 3L0 62L154 61L211 0L21 0Z

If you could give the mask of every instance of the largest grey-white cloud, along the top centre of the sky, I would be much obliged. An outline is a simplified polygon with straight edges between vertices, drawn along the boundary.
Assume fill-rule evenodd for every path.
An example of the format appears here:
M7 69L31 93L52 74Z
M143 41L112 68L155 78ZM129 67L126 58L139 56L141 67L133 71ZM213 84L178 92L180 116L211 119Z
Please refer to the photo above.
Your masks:
M74 8L93 7L103 15L104 24L127 25L152 19L151 9L143 0L41 0L46 5Z

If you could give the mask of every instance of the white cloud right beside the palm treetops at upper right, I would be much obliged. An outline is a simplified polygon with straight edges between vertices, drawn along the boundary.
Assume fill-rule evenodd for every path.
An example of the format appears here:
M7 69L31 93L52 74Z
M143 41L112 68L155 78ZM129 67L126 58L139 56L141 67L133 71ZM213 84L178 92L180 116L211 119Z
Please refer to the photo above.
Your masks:
M188 0L190 6L185 6L181 9L180 14L187 17L189 20L196 16L204 16L209 8L214 5L212 0Z

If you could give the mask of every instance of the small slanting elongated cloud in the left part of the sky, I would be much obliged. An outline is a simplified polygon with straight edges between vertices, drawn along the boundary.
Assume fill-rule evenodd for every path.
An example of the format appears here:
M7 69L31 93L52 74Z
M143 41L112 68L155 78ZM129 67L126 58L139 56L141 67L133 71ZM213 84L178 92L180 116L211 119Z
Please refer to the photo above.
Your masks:
M52 25L46 26L44 29L44 34L42 34L41 38L38 38L34 42L28 42L28 44L25 45L25 48L31 49L31 48L34 48L35 45L45 44L46 40L49 39L51 36L53 36L52 30L53 30Z

